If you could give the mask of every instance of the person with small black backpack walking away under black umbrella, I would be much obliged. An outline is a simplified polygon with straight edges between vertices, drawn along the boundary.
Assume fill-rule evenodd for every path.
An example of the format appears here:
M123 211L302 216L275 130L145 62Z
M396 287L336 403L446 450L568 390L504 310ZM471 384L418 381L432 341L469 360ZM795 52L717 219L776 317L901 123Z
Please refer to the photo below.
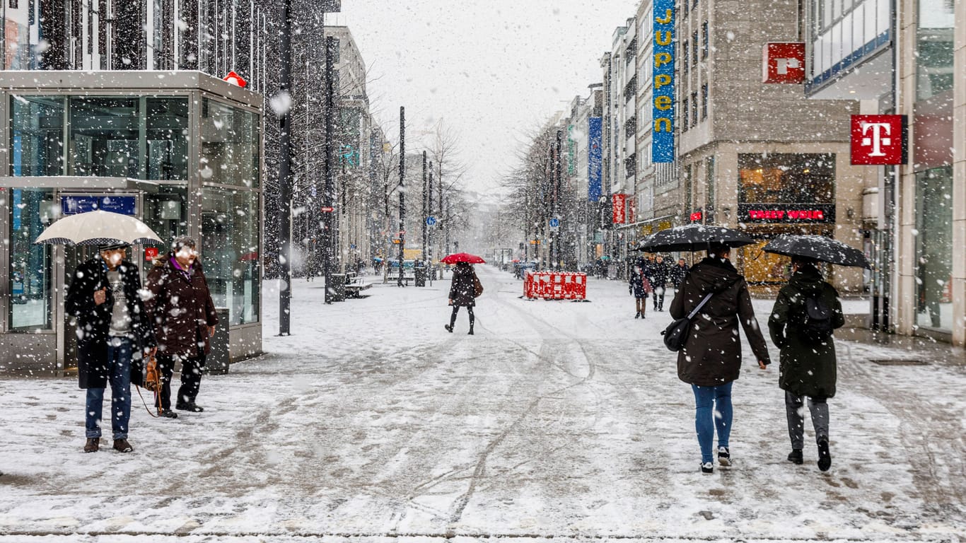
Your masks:
M815 260L794 256L791 278L781 288L768 319L772 342L781 349L779 386L785 391L785 415L791 453L788 461L805 462L804 399L818 446L818 469L832 467L829 451L828 399L836 395L835 329L845 324L835 287L818 271Z

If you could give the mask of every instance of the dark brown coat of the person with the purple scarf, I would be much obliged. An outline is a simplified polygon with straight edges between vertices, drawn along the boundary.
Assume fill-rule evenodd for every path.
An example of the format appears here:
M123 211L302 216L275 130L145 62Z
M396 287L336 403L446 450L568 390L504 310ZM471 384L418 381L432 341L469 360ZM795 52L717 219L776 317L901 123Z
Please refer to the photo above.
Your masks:
M145 308L155 323L157 353L165 357L197 357L211 352L208 327L218 324L208 280L195 260L190 279L174 267L174 254L155 260L145 285Z

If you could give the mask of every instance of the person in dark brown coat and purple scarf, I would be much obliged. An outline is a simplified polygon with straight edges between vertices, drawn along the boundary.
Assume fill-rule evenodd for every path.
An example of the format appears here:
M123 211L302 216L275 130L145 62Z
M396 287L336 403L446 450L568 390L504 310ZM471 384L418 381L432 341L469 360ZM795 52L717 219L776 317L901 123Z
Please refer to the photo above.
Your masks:
M194 239L177 238L170 252L156 258L146 286L151 298L145 309L157 330L161 414L178 417L171 411L171 378L177 362L182 374L175 409L201 413L205 410L195 400L218 317Z

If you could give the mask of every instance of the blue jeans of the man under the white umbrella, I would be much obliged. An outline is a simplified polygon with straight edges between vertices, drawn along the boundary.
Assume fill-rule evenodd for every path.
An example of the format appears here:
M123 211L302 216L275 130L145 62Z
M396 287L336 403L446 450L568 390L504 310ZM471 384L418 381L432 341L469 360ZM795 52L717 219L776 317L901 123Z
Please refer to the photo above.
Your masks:
M107 371L111 384L111 430L115 440L128 439L130 421L131 341L125 337L107 339ZM100 437L100 413L104 403L103 388L87 389L84 427L88 438Z

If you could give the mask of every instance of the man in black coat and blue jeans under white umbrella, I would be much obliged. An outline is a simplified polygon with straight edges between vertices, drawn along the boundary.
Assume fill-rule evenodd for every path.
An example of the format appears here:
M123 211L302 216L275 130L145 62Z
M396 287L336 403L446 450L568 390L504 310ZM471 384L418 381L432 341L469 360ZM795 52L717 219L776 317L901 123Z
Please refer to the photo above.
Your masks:
M101 245L99 256L77 267L65 308L77 326L77 379L87 389L84 452L99 450L104 388L111 385L114 448L130 452L130 383L142 379L142 354L156 346L144 312L141 274L125 260L126 245Z

